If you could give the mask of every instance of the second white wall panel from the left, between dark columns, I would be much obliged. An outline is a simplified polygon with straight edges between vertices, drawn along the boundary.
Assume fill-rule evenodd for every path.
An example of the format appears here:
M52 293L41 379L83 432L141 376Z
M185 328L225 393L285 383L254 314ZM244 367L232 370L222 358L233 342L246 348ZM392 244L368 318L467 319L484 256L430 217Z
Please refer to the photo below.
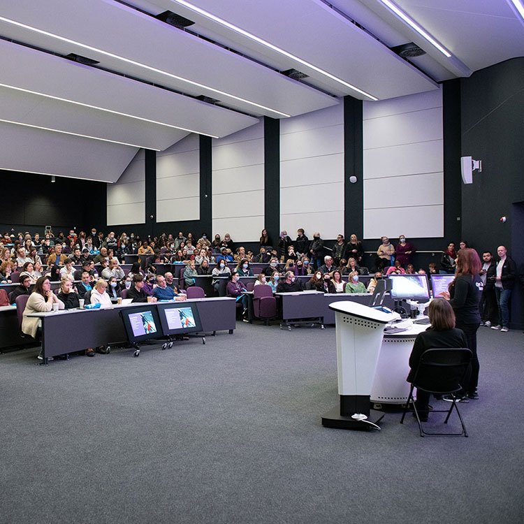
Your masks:
M157 222L200 219L200 142L191 134L157 154Z

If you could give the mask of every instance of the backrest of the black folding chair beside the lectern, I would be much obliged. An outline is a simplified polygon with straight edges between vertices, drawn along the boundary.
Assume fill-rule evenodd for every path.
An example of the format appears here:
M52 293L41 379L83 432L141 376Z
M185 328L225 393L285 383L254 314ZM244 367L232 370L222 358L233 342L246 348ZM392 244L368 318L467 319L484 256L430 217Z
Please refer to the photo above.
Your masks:
M460 391L471 358L472 352L465 348L428 349L421 356L412 384L441 395Z

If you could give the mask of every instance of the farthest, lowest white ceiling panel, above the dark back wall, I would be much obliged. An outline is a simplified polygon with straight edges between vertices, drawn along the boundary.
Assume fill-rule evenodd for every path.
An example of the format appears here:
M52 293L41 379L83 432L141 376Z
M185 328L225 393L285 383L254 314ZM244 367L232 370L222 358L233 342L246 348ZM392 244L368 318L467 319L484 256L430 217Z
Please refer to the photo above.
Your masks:
M136 147L0 122L0 169L116 182Z

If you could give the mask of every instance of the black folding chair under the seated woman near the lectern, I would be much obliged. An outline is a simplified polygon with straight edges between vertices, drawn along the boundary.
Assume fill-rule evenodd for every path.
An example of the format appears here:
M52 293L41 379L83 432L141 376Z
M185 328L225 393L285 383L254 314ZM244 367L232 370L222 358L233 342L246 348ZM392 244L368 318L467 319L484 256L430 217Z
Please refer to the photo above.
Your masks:
M467 437L464 421L458 411L455 393L463 389L462 384L469 370L471 358L472 352L464 348L428 349L428 351L424 351L419 362L419 367L416 368L412 387L409 390L409 397L407 398L400 423L402 424L404 422L409 405L412 403L416 421L419 423L421 437L424 435L464 435ZM460 424L462 425L462 431L460 433L424 431L419 412L416 409L415 402L413 402L414 388L433 393L434 395L450 395L452 402L449 409L433 409L430 413L447 413L446 419L444 420L444 424L447 424L449 416L453 408L455 408Z

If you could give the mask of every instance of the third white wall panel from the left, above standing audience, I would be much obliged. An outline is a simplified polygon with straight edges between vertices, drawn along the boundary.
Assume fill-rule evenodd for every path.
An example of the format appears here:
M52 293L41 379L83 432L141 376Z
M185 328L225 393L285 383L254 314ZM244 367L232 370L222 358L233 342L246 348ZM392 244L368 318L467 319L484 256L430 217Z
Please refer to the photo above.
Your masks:
M263 122L212 141L212 229L256 242L264 228Z

